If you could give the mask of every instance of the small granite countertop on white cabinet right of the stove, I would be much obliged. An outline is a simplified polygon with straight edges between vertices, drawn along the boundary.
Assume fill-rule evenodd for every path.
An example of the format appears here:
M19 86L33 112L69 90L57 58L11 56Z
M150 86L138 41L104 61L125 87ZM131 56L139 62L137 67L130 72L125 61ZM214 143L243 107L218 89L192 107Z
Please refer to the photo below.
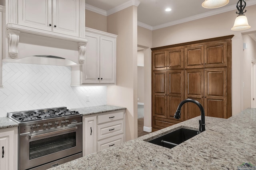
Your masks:
M108 111L116 111L116 110L123 110L123 109L126 109L126 108L119 107L119 106L102 105L102 106L81 107L81 108L70 109L70 110L78 111L83 116L85 116L85 115L92 115L97 113L104 113Z

